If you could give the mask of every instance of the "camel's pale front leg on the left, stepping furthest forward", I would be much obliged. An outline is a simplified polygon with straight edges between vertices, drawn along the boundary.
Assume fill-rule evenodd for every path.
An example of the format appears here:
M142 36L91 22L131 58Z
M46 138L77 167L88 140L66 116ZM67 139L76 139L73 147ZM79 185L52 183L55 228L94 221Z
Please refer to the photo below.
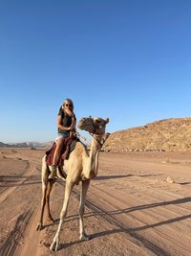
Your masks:
M64 203L62 206L62 210L60 213L60 221L59 221L59 225L57 228L57 232L55 233L55 236L53 238L53 243L50 246L50 249L53 251L58 250L60 230L61 230L62 222L64 221L64 218L67 214L69 199L71 197L73 187L74 187L74 183L71 183L70 181L68 181L68 182L66 181L65 197L64 197Z

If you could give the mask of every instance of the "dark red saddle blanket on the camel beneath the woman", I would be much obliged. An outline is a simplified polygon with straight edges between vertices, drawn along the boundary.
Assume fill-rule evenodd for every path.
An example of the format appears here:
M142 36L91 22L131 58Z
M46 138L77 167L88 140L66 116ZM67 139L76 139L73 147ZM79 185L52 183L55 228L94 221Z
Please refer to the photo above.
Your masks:
M63 138L63 145L57 166L64 165L64 160L69 158L69 155L74 151L76 143L79 141L77 137L71 136L68 138ZM46 163L49 166L53 165L53 154L55 151L56 144L53 142L53 146L49 151L46 151Z

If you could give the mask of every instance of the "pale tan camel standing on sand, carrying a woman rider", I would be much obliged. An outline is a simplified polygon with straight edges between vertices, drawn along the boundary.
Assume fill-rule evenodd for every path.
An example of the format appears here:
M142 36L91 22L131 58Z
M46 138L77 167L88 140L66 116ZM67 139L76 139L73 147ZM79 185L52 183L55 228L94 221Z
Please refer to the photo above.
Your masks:
M80 141L76 143L74 151L70 153L68 160L64 160L64 165L61 166L62 171L67 175L65 179L65 197L63 206L60 212L60 221L58 224L57 231L53 238L53 243L50 249L53 251L58 250L59 246L59 235L64 218L67 215L67 209L69 200L74 188L74 184L78 184L81 181L81 192L79 202L79 240L87 241L89 236L84 230L83 214L85 197L88 192L90 180L97 175L98 170L98 155L101 147L106 141L109 133L105 132L106 125L109 122L109 118L102 119L98 117L82 118L77 127L88 131L92 136L92 143L90 151L87 151L84 144ZM50 212L50 194L53 189L54 179L49 179L52 167L46 164L46 155L42 159L42 202L41 202L41 215L40 221L37 225L36 230L43 228L43 214L45 205L47 205L48 220L53 221L53 217ZM62 177L57 169L57 175ZM64 178L63 178L64 179Z

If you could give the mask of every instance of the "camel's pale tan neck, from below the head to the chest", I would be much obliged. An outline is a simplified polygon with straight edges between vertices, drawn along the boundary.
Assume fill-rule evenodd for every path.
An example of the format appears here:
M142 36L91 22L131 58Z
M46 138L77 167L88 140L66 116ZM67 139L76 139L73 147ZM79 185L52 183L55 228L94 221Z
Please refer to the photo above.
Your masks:
M97 175L98 155L100 149L101 145L98 143L96 138L93 137L89 157L86 158L85 168L83 169L83 175L86 178L92 178Z

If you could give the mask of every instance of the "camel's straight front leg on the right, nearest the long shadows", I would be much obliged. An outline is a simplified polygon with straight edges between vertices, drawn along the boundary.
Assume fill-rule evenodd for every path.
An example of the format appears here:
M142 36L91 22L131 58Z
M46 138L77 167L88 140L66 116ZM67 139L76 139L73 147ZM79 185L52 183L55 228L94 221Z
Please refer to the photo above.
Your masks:
M86 179L82 181L80 203L79 203L79 239L82 241L87 241L90 239L89 236L87 236L85 233L84 224L83 224L85 198L86 198L89 185L90 185L90 179Z

